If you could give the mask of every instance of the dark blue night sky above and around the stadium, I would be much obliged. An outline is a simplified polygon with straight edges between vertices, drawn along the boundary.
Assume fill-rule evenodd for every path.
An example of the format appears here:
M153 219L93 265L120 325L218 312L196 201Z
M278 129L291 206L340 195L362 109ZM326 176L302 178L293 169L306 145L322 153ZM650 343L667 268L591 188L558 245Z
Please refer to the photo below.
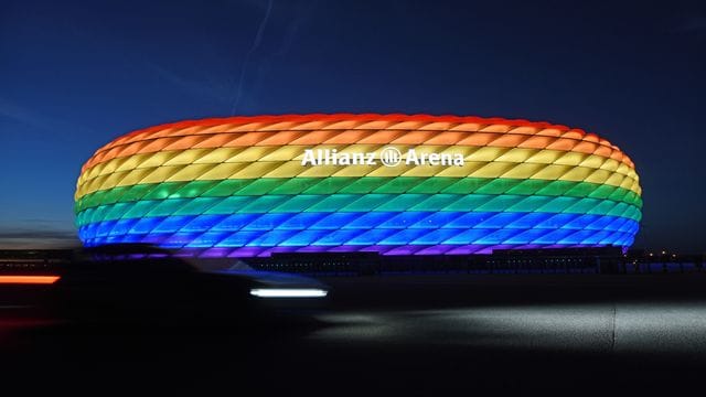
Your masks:
M135 129L421 112L596 132L641 176L634 247L704 251L705 110L703 1L2 1L0 247L76 244L81 165Z

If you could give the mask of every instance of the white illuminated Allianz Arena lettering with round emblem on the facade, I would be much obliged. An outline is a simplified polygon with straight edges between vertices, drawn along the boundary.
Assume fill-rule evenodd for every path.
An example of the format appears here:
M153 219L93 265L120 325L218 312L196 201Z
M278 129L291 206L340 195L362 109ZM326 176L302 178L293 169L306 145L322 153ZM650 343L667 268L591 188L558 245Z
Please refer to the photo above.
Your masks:
M408 149L405 155L395 147L374 152L339 152L336 149L304 149L301 165L456 165L464 164L460 153L429 153Z

